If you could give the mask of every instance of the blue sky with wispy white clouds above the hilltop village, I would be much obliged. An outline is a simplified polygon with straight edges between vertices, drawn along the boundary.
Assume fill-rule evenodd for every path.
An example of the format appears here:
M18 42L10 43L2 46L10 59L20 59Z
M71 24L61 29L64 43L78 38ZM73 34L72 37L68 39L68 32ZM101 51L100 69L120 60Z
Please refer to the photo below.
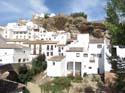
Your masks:
M106 0L0 0L0 24L30 19L33 13L84 12L88 20L106 16Z

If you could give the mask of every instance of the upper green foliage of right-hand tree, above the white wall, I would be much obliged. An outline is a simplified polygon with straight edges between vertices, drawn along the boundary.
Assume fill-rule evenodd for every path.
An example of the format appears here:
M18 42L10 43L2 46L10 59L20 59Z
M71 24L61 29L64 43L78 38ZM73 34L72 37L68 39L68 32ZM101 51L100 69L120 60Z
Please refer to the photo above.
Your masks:
M106 12L112 43L125 45L125 0L107 0Z

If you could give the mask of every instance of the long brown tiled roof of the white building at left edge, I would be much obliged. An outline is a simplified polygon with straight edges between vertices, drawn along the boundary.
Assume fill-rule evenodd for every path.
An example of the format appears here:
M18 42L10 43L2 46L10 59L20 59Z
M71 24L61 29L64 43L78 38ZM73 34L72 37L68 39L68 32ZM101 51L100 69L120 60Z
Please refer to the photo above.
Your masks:
M18 48L27 48L27 47L16 44L0 44L0 49L18 49Z

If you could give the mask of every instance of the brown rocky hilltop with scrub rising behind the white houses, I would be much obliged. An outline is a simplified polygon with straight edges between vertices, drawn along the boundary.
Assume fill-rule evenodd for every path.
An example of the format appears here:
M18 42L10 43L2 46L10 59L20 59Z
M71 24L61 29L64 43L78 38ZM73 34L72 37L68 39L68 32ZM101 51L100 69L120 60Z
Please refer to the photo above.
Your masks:
M70 15L58 14L54 17L38 17L32 16L34 23L44 27L48 31L65 30L71 32L72 37L77 33L90 33L97 38L101 38L105 34L105 26L101 22L88 22L87 15L84 13L73 13Z

